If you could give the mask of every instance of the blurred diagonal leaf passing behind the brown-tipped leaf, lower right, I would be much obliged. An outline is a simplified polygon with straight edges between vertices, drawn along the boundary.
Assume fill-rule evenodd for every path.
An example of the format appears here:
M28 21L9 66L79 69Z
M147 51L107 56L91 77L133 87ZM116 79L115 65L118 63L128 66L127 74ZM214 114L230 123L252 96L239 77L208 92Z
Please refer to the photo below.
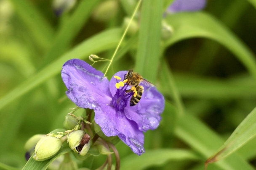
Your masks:
M216 133L191 114L184 114L179 119L175 134L186 144L202 154L205 160L224 143ZM226 159L216 162L215 165L224 170L253 170L253 167L237 154L232 154ZM210 167L212 165L210 164L208 166Z

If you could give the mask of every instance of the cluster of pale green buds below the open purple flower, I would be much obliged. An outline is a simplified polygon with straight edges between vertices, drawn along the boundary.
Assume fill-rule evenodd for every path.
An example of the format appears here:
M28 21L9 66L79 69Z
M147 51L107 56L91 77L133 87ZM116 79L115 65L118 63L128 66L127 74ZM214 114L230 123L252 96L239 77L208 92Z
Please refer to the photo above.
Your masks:
M68 146L72 149L72 153L78 160L85 160L90 155L99 156L99 154L112 154L113 152L110 152L106 141L116 144L120 139L117 136L105 136L94 121L93 126L88 126L92 125L92 123L88 122L86 120L87 118L73 115L73 112L78 109L80 108L75 107L71 109L74 111L65 117L63 129L55 129L46 135L38 134L32 136L25 144L27 151L26 156L28 155L29 158L29 155L35 150L34 154L32 154L32 158L36 161L44 161L51 159L58 154L58 152L61 152L61 149L66 149ZM96 139L97 136L101 138L99 141L94 141L93 145L91 144L91 137L85 132L87 131L87 127L93 129L90 132L96 133ZM67 143L64 141L67 141ZM64 154L64 160L59 164L59 170L77 169L76 162L71 159L69 154L69 152Z

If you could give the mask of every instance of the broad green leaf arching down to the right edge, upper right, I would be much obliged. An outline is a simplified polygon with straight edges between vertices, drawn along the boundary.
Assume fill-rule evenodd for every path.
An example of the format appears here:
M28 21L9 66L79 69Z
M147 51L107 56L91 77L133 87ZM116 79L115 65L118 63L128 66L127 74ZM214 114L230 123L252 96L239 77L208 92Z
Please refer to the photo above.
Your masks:
M166 21L173 26L173 37L166 42L166 46L194 37L213 39L229 49L256 79L255 55L235 34L213 17L201 12L176 13L168 16Z

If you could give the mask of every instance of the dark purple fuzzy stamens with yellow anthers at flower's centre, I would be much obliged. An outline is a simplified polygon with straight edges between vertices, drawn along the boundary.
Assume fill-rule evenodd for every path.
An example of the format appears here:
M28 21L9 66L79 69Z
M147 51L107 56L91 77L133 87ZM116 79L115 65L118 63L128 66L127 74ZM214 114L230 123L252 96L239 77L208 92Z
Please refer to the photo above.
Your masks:
M115 84L117 92L112 98L111 105L115 108L117 113L120 113L124 111L124 108L127 106L127 102L131 97L136 97L137 91L135 86L132 86L131 90L126 90L129 86L127 79L118 82L121 78L118 76L114 76L114 78L117 80L117 83Z

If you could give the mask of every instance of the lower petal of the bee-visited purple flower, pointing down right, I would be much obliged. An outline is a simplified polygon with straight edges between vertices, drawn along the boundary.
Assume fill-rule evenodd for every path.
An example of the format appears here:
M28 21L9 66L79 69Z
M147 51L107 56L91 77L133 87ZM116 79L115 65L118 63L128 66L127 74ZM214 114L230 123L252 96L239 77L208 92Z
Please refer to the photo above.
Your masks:
M145 152L144 135L137 128L137 123L127 119L122 113L117 114L111 106L97 107L94 112L94 120L106 136L118 135L134 153L141 155Z

